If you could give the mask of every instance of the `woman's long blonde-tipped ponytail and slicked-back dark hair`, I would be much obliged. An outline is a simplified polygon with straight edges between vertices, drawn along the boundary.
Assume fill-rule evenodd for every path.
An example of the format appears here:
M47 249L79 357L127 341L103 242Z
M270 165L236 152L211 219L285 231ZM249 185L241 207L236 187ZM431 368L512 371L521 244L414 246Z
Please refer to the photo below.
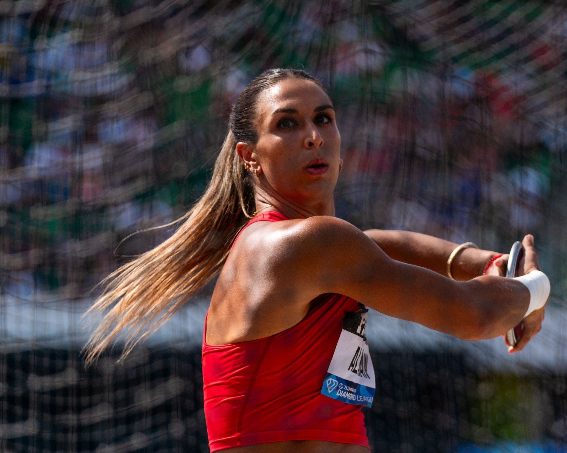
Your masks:
M258 96L287 77L311 80L324 89L305 71L272 69L264 71L240 93L232 106L229 131L204 195L179 219L156 227L181 223L170 238L96 285L107 284L85 315L112 308L83 348L87 366L128 328L119 361L124 360L139 341L153 334L221 270L232 240L255 208L252 175L236 153L236 143L257 142L254 120Z

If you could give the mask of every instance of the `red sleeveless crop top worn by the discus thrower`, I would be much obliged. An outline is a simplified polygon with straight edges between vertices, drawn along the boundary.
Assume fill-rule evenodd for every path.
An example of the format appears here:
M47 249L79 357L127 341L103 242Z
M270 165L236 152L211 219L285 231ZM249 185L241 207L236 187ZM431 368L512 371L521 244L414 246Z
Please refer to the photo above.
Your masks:
M261 220L287 217L263 212L244 228ZM216 346L205 341L205 316L202 365L210 451L307 439L370 450L361 411L374 395L366 311L350 297L321 294L293 327Z

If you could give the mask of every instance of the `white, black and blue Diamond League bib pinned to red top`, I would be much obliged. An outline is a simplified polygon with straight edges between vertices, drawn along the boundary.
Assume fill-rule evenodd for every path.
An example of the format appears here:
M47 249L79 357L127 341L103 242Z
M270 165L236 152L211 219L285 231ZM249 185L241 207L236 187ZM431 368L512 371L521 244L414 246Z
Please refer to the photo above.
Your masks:
M372 405L376 383L374 366L366 339L368 309L347 313L342 321L331 365L323 380L321 394L350 404Z

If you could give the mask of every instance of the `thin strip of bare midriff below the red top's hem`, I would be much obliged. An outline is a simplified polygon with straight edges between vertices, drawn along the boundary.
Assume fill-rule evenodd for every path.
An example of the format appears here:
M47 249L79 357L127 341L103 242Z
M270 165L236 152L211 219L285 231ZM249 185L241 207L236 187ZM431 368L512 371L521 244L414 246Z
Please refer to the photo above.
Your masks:
M226 448L222 453L369 453L368 448L352 443L325 441L282 441Z

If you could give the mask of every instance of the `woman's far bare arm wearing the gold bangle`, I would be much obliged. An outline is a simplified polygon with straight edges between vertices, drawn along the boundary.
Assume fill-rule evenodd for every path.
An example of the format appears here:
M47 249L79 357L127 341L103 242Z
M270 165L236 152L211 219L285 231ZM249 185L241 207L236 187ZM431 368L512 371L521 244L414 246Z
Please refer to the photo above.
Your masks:
M421 266L447 276L447 259L459 244L428 234L400 230L371 229L364 232L388 257L403 263ZM459 251L451 263L451 275L455 280L471 280L483 273L496 251L467 247ZM492 264L490 272L505 275L507 255ZM500 266L497 266L500 265Z

